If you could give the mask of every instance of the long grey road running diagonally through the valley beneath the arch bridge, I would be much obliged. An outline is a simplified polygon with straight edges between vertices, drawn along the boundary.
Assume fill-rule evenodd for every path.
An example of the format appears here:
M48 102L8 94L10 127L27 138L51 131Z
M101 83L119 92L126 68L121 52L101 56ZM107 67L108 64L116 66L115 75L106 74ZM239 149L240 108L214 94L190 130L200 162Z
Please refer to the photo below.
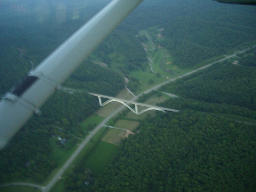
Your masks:
M212 66L213 64L215 63L218 63L218 62L221 62L221 61L224 61L224 60L227 60L231 57L236 57L237 54L240 54L240 53L243 53L245 52L246 50L249 50L250 48L247 48L247 49L244 49L244 50L241 50L241 51L237 51L237 53L234 53L232 55L229 55L229 56L226 56L225 58L223 59L219 59L215 62L212 62L210 64L207 64L207 65L204 65L203 67L200 67L198 69L195 69L193 71L190 71L188 73L185 73L181 76L179 76L178 78L182 78L182 77L185 77L185 76L188 76L190 74L193 74L199 70L203 70L205 68L208 68L210 66ZM167 80L166 82L163 82L163 83L160 83L146 91L144 91L143 93L150 93L151 91L153 90L156 90L158 88L160 88L161 86L163 85L166 85L170 82L173 82L175 81L177 78L172 78L172 79L169 79ZM70 89L67 89L67 90L70 90ZM73 91L73 90L72 90ZM139 95L133 97L130 101L136 101L143 93L140 93ZM111 119L113 118L116 114L118 114L120 111L122 111L123 109L125 108L124 105L120 106L119 108L117 108L112 114L110 114L108 117L106 117L100 124L98 124L95 129L89 133L89 135L86 136L86 138L84 139L84 141L82 142L82 144L80 144L80 146L75 150L75 152L70 156L70 158L66 161L66 163L59 169L58 173L53 177L53 179L51 181L49 181L49 183L47 184L47 186L43 187L43 186L38 186L38 185L35 185L35 184L30 184L30 183L9 183L9 184L5 184L5 185L2 185L1 187L4 187L4 186L12 186L12 185L24 185L24 186L31 186L31 187L36 187L40 190L42 190L43 192L48 192L49 190L51 190L51 188L54 186L54 184L61 178L61 175L66 171L66 169L70 166L70 164L73 162L73 160L77 157L77 155L83 150L83 148L86 146L86 144L90 141L90 139L102 128L104 127L104 125Z

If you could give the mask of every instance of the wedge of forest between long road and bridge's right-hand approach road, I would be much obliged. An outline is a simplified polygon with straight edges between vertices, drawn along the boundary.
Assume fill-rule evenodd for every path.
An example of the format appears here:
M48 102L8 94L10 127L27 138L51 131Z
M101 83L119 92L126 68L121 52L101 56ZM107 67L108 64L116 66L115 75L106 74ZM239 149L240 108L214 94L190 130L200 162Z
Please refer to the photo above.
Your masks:
M215 64L162 88L170 93L208 103L229 104L256 110L256 68Z

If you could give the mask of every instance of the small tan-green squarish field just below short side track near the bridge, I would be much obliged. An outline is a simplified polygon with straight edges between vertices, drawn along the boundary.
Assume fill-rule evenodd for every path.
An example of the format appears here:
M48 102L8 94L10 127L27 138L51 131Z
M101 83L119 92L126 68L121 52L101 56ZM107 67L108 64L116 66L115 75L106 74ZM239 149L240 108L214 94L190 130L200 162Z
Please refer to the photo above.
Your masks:
M119 145L125 134L126 131L124 130L110 129L108 133L106 133L106 135L102 138L102 141L113 145Z

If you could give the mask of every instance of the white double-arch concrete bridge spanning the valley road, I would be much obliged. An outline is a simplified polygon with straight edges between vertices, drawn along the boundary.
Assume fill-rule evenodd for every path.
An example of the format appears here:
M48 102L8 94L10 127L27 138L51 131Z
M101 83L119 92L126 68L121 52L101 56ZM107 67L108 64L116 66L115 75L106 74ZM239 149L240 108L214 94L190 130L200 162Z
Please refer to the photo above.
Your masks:
M134 114L137 114L137 115L140 115L148 110L159 110L159 111L162 111L162 112L165 112L165 111L171 111L171 112L179 112L179 110L176 110L176 109L171 109L171 108L165 108L165 107L158 107L158 106L155 106L155 105L148 105L148 104L144 104L144 103L138 103L138 102L134 102L134 101L129 101L129 100L125 100L125 99L120 99L120 98L115 98L115 97L110 97L110 96L107 96L107 95L102 95L102 94L97 94L97 93L89 93L88 94L90 95L94 95L96 97L99 98L99 104L100 106L104 106L110 102L119 102L119 103L122 103L123 105L125 105L126 107L128 107ZM101 98L106 98L106 99L109 99L105 102L102 103L102 100ZM132 109L129 104L134 104L135 105L135 110ZM138 106L144 106L144 107L147 107L141 111L138 110Z

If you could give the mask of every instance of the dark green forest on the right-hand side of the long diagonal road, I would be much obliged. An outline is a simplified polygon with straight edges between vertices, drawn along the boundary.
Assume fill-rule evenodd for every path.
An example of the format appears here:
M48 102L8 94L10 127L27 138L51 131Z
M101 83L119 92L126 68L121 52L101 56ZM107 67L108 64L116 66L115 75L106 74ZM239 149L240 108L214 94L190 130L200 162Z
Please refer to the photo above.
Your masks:
M242 62L252 53L254 50L241 56L240 65L232 64L230 59L163 86L161 91L179 98L158 105L181 112L159 112L154 118L142 120L137 134L122 143L120 154L102 174L93 176L86 189L254 191L256 110L253 103L246 104L256 98L256 68L248 66L247 60ZM153 91L138 101L153 95L162 93ZM87 169L76 173L87 178L92 175ZM83 185L66 185L67 191L83 191Z

